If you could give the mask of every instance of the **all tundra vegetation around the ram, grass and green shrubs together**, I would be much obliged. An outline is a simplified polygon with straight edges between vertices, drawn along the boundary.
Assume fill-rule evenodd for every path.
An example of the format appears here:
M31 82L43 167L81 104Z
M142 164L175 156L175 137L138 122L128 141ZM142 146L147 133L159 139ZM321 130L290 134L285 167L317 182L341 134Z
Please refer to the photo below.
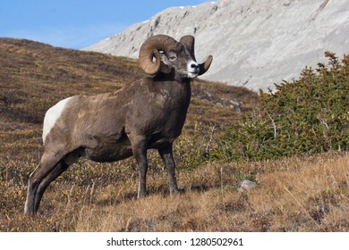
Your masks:
M28 217L26 185L43 152L47 109L143 75L131 59L0 39L0 231L348 231L349 62L327 56L328 64L305 69L258 101L246 89L195 80L183 134L174 141L183 195L168 196L156 152L142 200L132 159L81 159ZM239 108L225 106L226 99ZM239 192L243 179L259 185Z

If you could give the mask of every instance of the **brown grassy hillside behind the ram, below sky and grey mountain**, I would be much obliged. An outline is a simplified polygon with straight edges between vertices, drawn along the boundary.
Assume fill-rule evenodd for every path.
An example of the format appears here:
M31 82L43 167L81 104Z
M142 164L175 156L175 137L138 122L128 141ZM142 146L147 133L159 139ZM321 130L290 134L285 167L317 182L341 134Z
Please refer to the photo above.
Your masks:
M44 114L59 100L112 92L141 77L137 60L0 38L0 157L39 151ZM247 89L202 80L194 82L192 92L187 124L236 121L240 112L224 107L228 99L240 110L256 100Z

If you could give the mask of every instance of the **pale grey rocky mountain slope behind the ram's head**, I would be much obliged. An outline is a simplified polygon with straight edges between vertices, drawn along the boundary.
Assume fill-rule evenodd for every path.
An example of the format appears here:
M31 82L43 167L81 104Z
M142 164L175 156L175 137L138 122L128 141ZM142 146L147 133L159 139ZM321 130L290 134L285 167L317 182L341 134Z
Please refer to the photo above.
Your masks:
M196 37L201 63L214 61L203 79L273 88L298 79L305 65L327 62L324 52L349 53L349 0L220 0L173 7L86 50L138 57L152 35Z

